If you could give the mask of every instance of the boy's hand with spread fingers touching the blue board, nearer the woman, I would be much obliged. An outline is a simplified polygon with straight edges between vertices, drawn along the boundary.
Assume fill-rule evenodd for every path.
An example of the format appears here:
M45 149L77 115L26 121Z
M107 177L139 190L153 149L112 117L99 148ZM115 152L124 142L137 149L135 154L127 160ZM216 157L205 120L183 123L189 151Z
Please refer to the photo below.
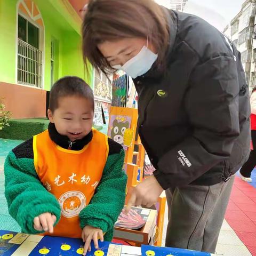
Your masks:
M85 226L82 231L82 239L84 241L84 253L86 255L87 251L91 251L91 241L94 242L95 249L99 248L98 239L101 242L104 241L102 230L99 228L94 228L91 226Z

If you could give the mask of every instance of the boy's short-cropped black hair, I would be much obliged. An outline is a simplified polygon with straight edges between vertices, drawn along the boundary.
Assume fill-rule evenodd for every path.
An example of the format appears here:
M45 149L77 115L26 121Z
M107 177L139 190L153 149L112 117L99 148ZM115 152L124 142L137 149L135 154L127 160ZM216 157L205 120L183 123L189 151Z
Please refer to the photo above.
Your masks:
M94 95L91 87L77 76L65 76L54 83L50 92L49 109L54 112L58 108L59 98L77 95L90 100L94 111Z

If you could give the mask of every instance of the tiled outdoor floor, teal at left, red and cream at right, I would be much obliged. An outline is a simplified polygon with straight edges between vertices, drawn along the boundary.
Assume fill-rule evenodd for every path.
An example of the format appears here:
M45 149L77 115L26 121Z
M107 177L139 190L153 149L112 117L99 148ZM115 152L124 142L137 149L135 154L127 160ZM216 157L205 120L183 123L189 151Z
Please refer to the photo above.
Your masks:
M4 197L3 164L7 153L21 141L0 139L0 229L20 231L10 217ZM220 231L216 252L224 256L256 256L256 170L251 184L236 177L228 209ZM162 245L165 244L167 205Z

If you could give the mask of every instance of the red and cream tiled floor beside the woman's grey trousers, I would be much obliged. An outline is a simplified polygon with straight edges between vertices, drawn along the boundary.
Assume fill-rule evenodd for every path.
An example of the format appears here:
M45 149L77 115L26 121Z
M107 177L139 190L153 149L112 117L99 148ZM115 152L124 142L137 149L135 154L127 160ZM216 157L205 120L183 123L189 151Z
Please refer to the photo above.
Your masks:
M253 183L235 178L225 220L220 231L216 253L224 256L256 256L256 169ZM165 209L164 234L167 228L167 205ZM162 246L165 245L163 239Z

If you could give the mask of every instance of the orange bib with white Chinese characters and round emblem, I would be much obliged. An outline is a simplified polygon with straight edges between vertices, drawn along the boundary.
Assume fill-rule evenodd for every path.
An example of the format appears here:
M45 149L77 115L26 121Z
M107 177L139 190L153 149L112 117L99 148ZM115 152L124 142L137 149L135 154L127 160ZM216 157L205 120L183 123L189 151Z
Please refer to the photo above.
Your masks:
M46 130L34 136L33 150L39 180L61 208L51 235L81 238L78 214L90 203L101 180L109 151L107 136L93 129L92 141L75 151L56 145Z

